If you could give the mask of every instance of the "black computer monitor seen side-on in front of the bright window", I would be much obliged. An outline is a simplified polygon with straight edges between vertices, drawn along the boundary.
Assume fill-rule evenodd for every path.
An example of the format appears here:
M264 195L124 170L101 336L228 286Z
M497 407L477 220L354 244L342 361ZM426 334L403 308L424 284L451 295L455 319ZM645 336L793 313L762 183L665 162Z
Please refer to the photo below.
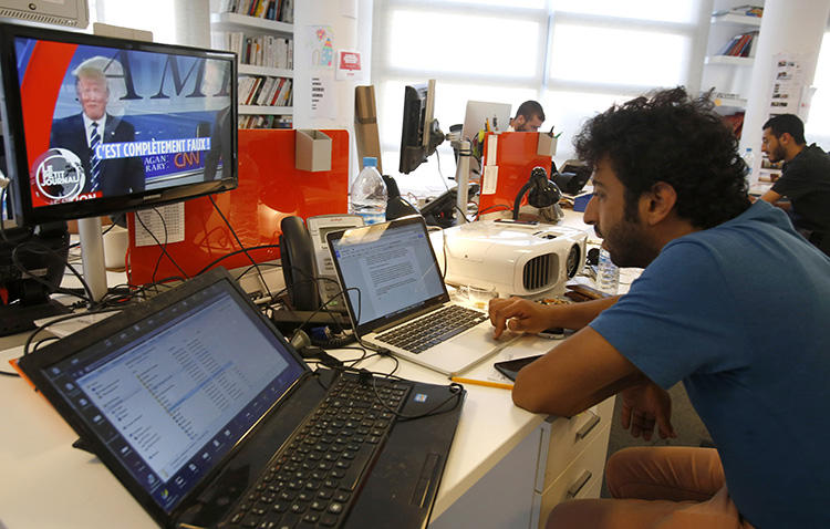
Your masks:
M404 90L404 120L401 131L398 172L408 175L444 142L444 133L434 118L435 80L407 85Z

